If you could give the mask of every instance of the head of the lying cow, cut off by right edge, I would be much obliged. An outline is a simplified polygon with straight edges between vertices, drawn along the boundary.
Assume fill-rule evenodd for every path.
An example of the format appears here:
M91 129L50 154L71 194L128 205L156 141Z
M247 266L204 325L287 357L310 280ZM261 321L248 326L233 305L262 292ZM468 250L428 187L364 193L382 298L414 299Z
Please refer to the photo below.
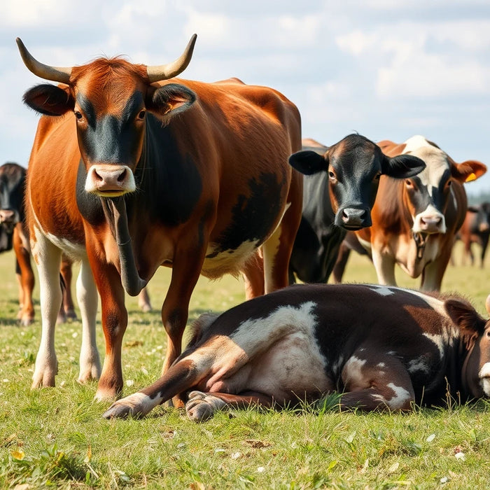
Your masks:
M474 398L490 398L490 321L458 300L448 300L444 306L461 332L466 353L461 367L463 389ZM490 314L490 295L486 298L486 309Z

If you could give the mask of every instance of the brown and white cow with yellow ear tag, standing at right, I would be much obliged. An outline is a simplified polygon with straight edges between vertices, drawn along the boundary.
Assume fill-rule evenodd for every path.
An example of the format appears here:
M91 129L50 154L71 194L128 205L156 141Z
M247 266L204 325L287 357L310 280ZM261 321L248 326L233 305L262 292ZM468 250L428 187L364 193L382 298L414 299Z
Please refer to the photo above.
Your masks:
M378 145L392 157L415 155L426 169L405 181L381 176L372 227L356 236L372 255L379 283L395 285L398 264L410 277L422 276L423 290L439 290L468 205L462 184L482 176L486 166L475 160L456 163L421 136Z

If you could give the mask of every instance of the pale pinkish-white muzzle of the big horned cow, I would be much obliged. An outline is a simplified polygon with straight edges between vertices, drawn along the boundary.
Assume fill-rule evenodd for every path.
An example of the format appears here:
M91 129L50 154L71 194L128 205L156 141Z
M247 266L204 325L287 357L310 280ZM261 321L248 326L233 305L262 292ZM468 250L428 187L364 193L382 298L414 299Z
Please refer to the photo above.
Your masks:
M118 197L136 190L134 175L126 165L96 164L90 167L85 191L101 197Z

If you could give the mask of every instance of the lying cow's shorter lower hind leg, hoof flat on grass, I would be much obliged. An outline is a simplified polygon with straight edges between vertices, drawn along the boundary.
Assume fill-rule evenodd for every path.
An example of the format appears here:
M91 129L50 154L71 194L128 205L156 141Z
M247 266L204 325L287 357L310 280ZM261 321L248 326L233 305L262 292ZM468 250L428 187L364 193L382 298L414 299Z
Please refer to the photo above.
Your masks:
M247 408L251 405L272 407L274 399L264 393L253 391L232 395L230 393L203 393L191 391L186 403L186 413L190 420L202 422L225 407Z

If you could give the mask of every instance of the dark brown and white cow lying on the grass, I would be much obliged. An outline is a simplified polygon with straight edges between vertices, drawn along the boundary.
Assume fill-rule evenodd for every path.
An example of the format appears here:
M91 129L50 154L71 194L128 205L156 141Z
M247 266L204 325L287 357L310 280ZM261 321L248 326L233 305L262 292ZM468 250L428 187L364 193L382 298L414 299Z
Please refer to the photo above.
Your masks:
M330 393L341 409L365 411L486 398L490 321L454 295L298 284L199 318L168 372L104 416L145 415L176 393L188 393L195 421L227 405L283 407Z

